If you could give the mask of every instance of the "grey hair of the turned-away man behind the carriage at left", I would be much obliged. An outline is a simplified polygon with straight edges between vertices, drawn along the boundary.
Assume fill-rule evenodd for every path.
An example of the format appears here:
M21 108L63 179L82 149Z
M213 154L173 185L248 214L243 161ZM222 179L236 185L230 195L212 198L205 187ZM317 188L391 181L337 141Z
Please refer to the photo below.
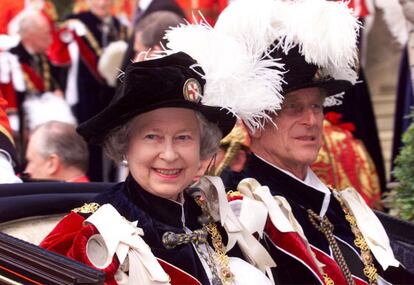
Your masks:
M65 166L76 167L83 172L88 170L88 145L76 132L75 125L49 121L33 130L41 132L37 151L43 157L56 154Z

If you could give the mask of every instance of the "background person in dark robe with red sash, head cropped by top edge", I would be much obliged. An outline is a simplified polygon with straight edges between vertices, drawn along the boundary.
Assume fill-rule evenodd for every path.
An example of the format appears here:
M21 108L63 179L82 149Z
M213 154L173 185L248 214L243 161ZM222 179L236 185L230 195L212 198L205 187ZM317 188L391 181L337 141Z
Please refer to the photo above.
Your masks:
M111 15L113 0L90 0L90 9L73 14L63 23L67 29L61 32L61 39L77 45L79 54L73 53L69 46L72 69L79 64L77 73L69 74L68 84L76 82L76 93L69 102L73 105L75 115L81 123L102 110L111 100L115 90L108 86L98 71L98 62L105 48L114 41L126 38L126 27ZM70 32L73 32L71 34ZM71 36L72 35L72 38Z

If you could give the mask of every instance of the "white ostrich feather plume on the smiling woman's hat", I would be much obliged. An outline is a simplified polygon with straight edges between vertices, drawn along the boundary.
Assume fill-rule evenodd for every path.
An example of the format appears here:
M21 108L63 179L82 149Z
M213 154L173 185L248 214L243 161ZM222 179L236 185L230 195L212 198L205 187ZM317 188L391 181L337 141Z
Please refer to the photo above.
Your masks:
M167 53L185 52L203 69L203 104L228 109L252 130L281 108L282 65L253 41L246 45L204 23L172 28L166 38Z

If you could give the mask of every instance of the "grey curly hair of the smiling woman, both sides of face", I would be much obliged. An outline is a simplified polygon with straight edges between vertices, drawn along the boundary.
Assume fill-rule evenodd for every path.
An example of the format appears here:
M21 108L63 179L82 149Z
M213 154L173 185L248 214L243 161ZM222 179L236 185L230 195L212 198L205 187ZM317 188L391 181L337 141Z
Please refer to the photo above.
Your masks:
M209 122L200 112L195 111L195 114L200 127L200 158L203 160L218 151L223 135L216 124ZM132 119L115 128L106 136L103 142L105 154L116 163L125 159L133 134L134 122L135 119Z

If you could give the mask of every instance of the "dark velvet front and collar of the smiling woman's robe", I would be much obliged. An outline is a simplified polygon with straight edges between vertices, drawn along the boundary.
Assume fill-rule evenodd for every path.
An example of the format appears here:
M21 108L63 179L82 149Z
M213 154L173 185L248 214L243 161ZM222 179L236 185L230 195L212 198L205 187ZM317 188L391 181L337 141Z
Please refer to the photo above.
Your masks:
M162 244L165 232L184 233L184 227L190 230L201 228L197 221L201 209L187 194L184 193L185 202L181 205L148 193L129 176L124 183L98 195L93 201L100 205L110 203L127 220L137 220L138 227L144 231L143 239L156 257L191 274L202 284L209 284L192 244L183 244L174 249L166 249Z

